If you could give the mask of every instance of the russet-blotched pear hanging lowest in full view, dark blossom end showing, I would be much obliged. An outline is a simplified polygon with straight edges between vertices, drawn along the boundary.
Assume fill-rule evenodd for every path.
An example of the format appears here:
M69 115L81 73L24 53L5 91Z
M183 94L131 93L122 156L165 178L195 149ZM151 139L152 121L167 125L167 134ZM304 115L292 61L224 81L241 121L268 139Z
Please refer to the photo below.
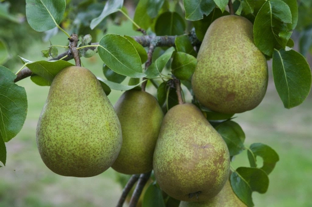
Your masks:
M177 200L210 199L229 176L226 143L191 103L178 104L166 113L153 161L159 187Z

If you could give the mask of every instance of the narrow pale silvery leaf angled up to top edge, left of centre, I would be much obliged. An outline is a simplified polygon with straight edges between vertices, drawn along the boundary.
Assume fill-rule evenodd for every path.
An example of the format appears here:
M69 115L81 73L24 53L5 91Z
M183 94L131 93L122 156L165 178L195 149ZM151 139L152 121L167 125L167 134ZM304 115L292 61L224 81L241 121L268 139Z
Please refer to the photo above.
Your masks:
M124 0L108 0L105 3L104 9L99 17L92 19L90 23L90 28L93 30L96 26L98 26L108 15L115 13L118 9L121 9L124 4Z

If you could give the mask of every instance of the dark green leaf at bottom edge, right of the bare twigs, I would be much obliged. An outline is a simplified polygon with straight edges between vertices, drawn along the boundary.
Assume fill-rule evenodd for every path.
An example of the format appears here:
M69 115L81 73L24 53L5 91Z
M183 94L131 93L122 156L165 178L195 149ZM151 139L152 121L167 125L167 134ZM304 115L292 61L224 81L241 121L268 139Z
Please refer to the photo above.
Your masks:
M162 191L155 183L151 183L146 189L142 207L165 207Z

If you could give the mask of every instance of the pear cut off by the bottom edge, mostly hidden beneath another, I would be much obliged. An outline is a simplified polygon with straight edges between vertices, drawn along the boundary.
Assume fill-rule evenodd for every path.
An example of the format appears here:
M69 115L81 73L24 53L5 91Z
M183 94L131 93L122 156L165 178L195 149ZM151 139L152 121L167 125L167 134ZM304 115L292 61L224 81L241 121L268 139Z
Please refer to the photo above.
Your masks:
M230 180L215 197L202 202L181 201L179 207L247 207L234 193Z

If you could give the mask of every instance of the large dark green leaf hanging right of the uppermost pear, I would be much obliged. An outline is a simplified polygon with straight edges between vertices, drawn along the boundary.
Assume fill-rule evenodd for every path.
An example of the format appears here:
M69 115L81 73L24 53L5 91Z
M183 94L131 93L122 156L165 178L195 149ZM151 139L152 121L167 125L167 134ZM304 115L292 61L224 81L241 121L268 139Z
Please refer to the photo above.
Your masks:
M297 51L274 51L272 60L275 88L285 108L301 104L311 89L311 70Z

